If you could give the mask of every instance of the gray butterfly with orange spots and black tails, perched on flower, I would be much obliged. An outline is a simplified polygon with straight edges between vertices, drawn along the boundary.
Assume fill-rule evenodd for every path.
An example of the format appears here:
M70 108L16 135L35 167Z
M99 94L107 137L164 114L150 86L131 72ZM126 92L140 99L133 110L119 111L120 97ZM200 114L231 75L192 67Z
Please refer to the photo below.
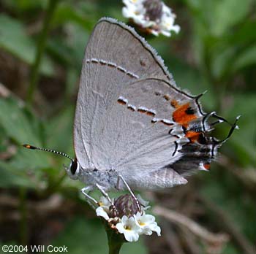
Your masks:
M211 136L224 118L201 109L200 96L176 87L162 58L133 28L99 20L86 46L75 111L76 158L67 173L91 190L170 188L208 170L227 138ZM216 120L209 123L209 118ZM236 121L238 118L236 119ZM228 122L227 122L228 123ZM121 181L120 181L121 180Z

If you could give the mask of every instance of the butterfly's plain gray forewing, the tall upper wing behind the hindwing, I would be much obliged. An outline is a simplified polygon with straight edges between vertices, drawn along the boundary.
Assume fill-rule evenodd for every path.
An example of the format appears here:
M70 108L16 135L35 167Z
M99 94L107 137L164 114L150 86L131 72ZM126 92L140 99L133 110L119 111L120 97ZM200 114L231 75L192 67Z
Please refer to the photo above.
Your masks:
M174 84L162 59L132 28L111 18L99 20L86 46L75 112L75 154L83 169L94 168L94 131L110 102L142 77Z

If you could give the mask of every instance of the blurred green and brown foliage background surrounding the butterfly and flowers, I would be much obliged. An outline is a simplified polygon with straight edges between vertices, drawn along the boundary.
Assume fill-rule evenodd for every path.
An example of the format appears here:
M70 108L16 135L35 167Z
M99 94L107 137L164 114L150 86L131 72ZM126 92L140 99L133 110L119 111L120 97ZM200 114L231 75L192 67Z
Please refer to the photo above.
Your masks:
M141 195L154 199L153 207L175 210L230 240L219 246L158 218L162 237L124 245L121 253L256 253L256 3L165 4L181 31L148 42L180 88L208 91L201 100L205 111L231 122L241 115L240 130L223 145L210 173L199 172L168 193ZM79 193L83 185L64 172L69 161L20 145L74 155L72 122L84 48L99 18L127 22L122 6L120 0L0 1L0 245L66 245L69 254L108 253L100 220ZM223 138L229 126L220 127L214 134Z

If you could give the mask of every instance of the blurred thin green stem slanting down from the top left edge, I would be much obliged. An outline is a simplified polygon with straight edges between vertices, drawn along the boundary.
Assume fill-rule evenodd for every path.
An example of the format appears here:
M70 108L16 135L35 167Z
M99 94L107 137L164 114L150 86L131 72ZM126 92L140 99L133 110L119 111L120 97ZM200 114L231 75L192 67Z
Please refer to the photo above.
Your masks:
M27 103L31 104L33 101L34 91L37 88L37 82L39 79L39 66L42 60L42 55L45 51L45 44L46 39L48 36L48 32L50 30L50 23L53 19L53 13L57 7L59 0L49 0L48 7L45 12L45 18L43 20L43 26L41 34L39 35L38 42L37 42L37 52L34 58L34 63L31 66L31 77L29 88L27 91L26 101Z

